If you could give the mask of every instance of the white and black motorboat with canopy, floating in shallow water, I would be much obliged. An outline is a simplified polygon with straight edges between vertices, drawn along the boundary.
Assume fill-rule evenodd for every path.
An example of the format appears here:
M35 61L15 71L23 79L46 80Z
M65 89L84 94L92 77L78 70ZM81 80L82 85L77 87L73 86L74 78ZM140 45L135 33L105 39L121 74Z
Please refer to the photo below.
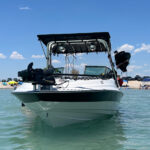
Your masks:
M53 127L117 113L123 93L117 81L108 32L37 36L41 44L47 47L47 53L44 53L47 66L45 69L33 69L33 63L30 63L26 70L18 72L24 83L12 94L23 106ZM67 58L79 53L103 52L108 56L110 68L85 66L83 74L64 73L64 68L54 68L52 64L53 55L62 54Z

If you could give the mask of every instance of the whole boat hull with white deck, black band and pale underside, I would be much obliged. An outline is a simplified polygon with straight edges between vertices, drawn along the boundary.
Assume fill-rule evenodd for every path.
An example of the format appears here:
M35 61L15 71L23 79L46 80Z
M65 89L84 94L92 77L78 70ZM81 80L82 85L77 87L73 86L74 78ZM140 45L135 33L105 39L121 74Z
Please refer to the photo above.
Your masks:
M25 83L13 94L53 127L113 115L118 111L123 94L113 79L70 80L65 84L49 91L34 91L32 84Z

